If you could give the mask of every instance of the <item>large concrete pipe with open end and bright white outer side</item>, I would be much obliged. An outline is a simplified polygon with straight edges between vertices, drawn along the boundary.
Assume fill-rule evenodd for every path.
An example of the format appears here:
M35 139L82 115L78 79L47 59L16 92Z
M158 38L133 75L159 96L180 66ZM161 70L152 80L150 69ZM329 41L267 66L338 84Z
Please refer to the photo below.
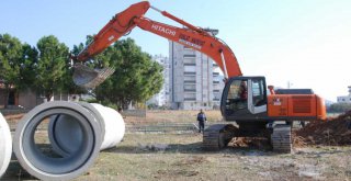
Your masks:
M50 146L59 157L47 157L36 148L35 131L49 117ZM19 123L13 150L22 167L41 180L70 180L88 170L102 149L123 138L122 116L100 104L54 101L41 104Z

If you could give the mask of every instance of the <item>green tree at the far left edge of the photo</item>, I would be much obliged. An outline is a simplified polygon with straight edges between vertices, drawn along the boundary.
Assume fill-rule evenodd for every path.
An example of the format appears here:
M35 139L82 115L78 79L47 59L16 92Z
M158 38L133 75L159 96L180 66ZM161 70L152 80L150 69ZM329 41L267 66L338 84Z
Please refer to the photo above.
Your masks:
M21 86L21 42L9 34L0 34L0 80L4 86L5 108L8 106L10 90L20 88L19 86Z

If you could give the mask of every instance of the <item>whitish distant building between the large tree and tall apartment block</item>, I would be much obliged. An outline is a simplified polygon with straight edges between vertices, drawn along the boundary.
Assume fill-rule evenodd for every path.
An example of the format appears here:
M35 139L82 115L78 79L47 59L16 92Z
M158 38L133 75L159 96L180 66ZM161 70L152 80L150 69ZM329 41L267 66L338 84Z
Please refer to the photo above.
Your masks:
M162 55L155 55L152 59L163 67L163 84L159 93L155 94L147 104L155 104L157 106L169 106L169 59Z

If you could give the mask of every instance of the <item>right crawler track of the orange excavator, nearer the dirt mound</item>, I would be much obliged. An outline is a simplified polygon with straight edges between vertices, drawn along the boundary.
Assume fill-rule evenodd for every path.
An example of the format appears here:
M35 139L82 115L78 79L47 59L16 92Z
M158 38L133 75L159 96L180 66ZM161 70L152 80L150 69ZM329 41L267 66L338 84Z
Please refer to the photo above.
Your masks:
M292 152L292 126L278 124L273 127L271 144L275 152Z

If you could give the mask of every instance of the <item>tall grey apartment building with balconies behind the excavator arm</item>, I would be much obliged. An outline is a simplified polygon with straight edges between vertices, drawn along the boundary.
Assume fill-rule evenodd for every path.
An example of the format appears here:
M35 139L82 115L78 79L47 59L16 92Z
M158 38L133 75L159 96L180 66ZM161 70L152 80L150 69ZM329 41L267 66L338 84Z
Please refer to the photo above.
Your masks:
M212 33L218 33L212 30ZM218 108L224 88L219 67L205 54L169 42L170 103L176 110Z

